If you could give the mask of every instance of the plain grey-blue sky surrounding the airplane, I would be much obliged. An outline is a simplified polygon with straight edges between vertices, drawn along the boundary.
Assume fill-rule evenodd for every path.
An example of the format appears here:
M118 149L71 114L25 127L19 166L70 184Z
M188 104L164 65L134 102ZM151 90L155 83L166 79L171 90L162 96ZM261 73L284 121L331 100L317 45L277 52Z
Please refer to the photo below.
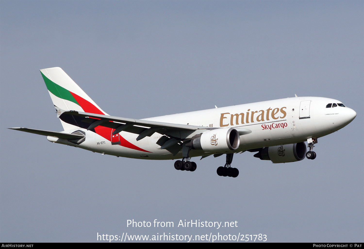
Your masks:
M266 234L363 242L363 1L1 1L1 242L96 234ZM116 158L8 130L61 131L39 69L61 67L108 114L147 118L298 96L357 112L315 160ZM126 221L174 228L127 228ZM178 228L179 220L238 221Z

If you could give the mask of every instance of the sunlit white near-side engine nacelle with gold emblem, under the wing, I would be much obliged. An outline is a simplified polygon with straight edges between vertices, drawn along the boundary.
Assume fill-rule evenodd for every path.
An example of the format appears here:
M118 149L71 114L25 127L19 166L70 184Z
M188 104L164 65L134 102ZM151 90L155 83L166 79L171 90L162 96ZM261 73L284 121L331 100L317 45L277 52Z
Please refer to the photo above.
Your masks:
M186 146L205 152L222 153L236 150L239 145L240 136L236 129L219 128L205 131L201 134L201 137L192 139Z

